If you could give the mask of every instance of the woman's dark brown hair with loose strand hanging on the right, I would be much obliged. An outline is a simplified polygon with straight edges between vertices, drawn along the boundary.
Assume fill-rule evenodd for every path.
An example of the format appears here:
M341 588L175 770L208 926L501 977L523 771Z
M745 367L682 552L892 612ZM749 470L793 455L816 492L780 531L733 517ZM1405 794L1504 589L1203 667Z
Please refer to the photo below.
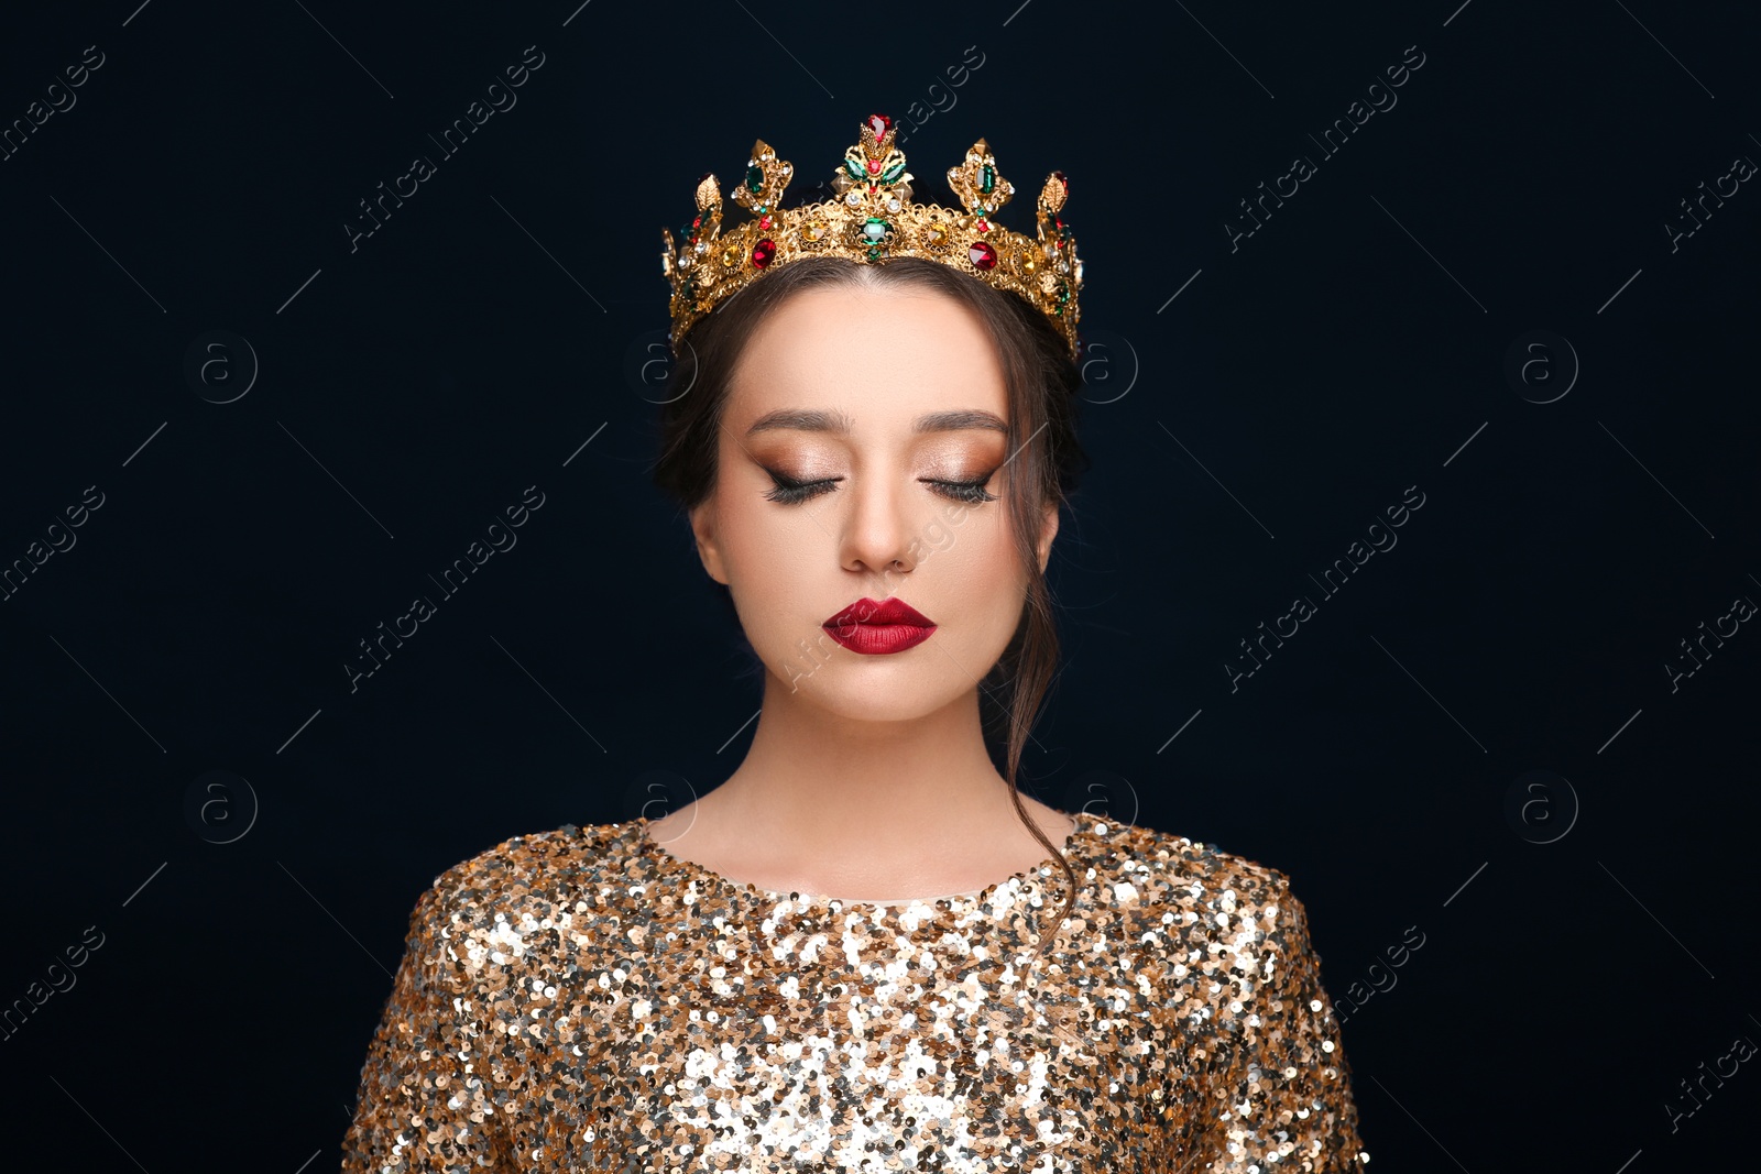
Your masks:
M997 345L1009 398L1007 451L1014 454L1007 509L1016 551L1028 572L1027 600L1016 632L979 688L979 715L986 748L997 757L1021 824L1064 866L1069 894L1058 922L1076 898L1076 871L1058 845L1028 818L1016 776L1021 750L1051 688L1058 665L1058 635L1051 595L1035 551L1044 505L1067 502L1088 458L1076 440L1081 371L1069 347L1044 313L1023 297L993 289L939 260L895 257L859 264L842 257L803 257L763 280L729 294L699 319L680 343L682 354L667 377L660 410L660 456L653 481L685 510L715 488L717 440L729 378L759 322L791 294L814 287L905 285L946 294L977 313ZM990 704L986 704L990 702ZM1051 943L1044 938L1039 952Z

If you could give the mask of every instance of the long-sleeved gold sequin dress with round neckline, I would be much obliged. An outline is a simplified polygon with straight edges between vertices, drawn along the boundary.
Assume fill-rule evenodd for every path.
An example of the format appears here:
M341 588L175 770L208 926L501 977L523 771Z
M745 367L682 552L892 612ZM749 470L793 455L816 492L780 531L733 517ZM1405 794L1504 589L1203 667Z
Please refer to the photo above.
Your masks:
M1067 878L835 901L646 820L516 836L416 905L345 1174L1358 1170L1282 873L1076 817Z

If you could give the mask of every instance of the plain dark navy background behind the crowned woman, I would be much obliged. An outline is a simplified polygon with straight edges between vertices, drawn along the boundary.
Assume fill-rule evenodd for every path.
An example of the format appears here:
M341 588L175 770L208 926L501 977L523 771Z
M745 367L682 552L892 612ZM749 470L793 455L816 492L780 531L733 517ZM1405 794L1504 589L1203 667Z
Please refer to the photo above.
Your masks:
M659 229L755 137L814 181L912 104L942 106L914 174L986 137L1007 227L1067 172L1087 266L1094 468L1028 789L1293 877L1335 1002L1375 991L1344 1028L1375 1169L1752 1160L1752 1063L1676 1130L1666 1102L1761 1040L1761 635L1664 667L1761 600L1761 192L1664 227L1761 160L1752 5L136 2L0 21L4 125L104 55L0 162L0 565L102 493L0 602L0 1005L104 935L0 1040L7 1165L335 1169L431 878L733 771L759 681L627 377ZM518 104L440 158L527 46ZM416 155L437 174L350 252ZM236 343L185 378L208 331L261 364L231 403ZM1558 341L1506 377L1530 331L1574 382ZM442 598L528 486L518 546Z

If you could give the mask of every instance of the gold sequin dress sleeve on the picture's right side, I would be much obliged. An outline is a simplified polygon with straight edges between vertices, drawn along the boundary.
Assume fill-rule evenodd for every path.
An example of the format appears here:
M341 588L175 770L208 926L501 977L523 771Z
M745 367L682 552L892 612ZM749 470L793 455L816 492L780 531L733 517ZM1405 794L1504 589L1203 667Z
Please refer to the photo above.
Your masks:
M1268 871L1271 884L1224 935L1234 963L1217 1007L1192 1172L1361 1170L1370 1155L1308 914L1286 877Z

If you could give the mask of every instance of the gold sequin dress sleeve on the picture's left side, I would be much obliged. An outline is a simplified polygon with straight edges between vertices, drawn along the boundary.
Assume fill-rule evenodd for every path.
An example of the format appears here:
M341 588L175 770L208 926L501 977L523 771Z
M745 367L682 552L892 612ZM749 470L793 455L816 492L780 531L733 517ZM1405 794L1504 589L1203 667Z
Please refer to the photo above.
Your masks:
M440 882L410 915L403 961L361 1067L343 1174L486 1174L502 1160L484 1088L484 1000L461 977Z

